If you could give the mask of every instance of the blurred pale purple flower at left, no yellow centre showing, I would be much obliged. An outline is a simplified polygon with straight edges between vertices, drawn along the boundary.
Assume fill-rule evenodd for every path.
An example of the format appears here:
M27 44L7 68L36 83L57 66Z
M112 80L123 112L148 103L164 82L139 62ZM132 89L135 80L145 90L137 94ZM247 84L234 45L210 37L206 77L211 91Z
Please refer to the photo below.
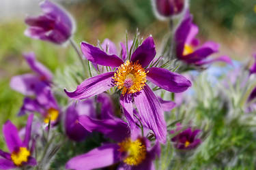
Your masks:
M23 54L29 67L34 73L16 75L12 78L10 86L23 95L35 95L38 88L49 86L53 80L53 74L42 63L36 61L33 52Z

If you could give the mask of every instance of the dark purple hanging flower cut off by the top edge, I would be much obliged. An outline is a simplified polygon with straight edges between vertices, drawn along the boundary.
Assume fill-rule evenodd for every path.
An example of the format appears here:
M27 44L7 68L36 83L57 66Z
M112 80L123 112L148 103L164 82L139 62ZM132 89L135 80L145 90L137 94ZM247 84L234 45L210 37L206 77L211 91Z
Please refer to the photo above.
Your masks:
M181 14L187 3L187 0L152 0L156 16L160 19Z

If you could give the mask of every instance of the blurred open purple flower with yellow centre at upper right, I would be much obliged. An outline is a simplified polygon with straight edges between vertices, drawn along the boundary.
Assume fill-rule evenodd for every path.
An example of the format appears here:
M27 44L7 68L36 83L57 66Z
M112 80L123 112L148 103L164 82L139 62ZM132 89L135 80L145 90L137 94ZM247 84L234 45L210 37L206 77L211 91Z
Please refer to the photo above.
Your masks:
M231 64L228 56L205 60L211 54L218 52L219 44L214 41L207 41L199 46L199 39L195 38L199 29L193 24L192 16L187 11L184 19L175 31L176 55L181 61L193 65L207 65L216 61L223 61Z

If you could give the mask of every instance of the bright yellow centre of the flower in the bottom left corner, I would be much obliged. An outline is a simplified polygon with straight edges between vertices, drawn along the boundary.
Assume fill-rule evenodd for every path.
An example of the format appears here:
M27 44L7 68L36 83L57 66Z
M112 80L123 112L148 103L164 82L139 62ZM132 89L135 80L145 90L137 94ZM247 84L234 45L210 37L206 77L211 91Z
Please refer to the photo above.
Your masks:
M21 166L23 163L27 163L29 156L30 152L25 147L20 147L18 152L14 151L11 154L12 162L16 166Z

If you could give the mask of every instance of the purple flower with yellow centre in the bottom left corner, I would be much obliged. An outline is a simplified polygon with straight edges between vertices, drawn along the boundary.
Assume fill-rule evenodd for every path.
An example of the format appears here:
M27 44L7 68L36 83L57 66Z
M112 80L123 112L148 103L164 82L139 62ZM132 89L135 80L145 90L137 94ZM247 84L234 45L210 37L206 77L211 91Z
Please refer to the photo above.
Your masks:
M33 147L29 148L31 139L31 125L33 114L29 115L25 130L25 137L22 141L18 136L18 129L10 120L3 124L3 136L10 153L0 150L0 169L14 169L25 165L35 166L36 160L33 158ZM33 145L32 145L33 146Z

